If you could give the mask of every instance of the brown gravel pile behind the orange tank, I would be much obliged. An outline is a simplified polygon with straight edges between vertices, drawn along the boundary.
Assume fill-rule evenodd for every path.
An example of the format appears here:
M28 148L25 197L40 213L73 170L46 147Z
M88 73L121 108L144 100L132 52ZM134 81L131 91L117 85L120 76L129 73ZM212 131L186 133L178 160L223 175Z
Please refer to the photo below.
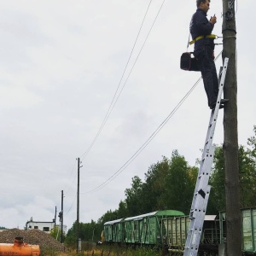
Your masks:
M0 243L14 243L16 236L23 237L23 241L28 244L38 245L41 252L47 249L58 252L65 251L61 242L56 241L55 238L41 230L3 230L0 232Z

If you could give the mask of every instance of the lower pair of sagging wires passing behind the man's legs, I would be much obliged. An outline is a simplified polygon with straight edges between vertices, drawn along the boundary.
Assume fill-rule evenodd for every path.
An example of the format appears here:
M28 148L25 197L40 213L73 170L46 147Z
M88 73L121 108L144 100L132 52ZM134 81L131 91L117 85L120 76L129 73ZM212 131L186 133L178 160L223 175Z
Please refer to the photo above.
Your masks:
M215 58L214 61L216 61L218 59L218 57L222 54L222 51L218 54L218 56ZM121 172L123 172L125 170L125 168L127 166L129 166L131 164L131 162L133 160L135 160L137 158L137 156L139 154L141 154L141 152L143 151L144 148L146 148L148 146L148 144L154 139L154 137L160 132L160 130L166 125L166 123L169 121L169 119L172 118L173 114L177 112L177 109L180 108L180 106L183 104L183 102L187 99L187 97L191 94L191 92L193 90L195 90L195 87L197 84L199 84L199 82L201 81L201 78L198 79L195 84L191 87L191 89L186 93L185 96L183 96L183 98L180 100L180 102L177 103L177 106L175 108L172 109L172 112L168 114L168 116L166 117L166 119L164 119L164 121L158 126L158 128L151 134L150 137L148 137L148 139L146 140L145 143L143 143L143 145L137 149L137 151L131 156L131 158L129 160L127 160L125 162L125 164L123 166L121 166L119 168L119 170L117 172L114 172L113 175L111 177L109 177L105 182L103 182L101 185L97 186L95 189L91 189L90 191L81 193L81 194L87 194L87 193L93 193L96 192L100 189L103 189L105 186L108 185L108 183L110 183L115 177L118 177L119 174Z

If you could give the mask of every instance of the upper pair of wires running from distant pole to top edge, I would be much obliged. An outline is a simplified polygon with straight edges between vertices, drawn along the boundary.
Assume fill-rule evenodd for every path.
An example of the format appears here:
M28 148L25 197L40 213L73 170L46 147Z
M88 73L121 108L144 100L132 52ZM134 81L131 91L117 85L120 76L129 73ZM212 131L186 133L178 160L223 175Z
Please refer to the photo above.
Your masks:
M139 51L139 53L138 53L138 55L137 55L137 58L136 58L136 60L135 60L135 62L134 62L134 64L133 64L133 66L131 67L131 71L130 71L130 73L128 74L127 79L125 80L125 83L123 84L121 90L119 90L120 84L121 84L121 82L122 82L122 80L123 80L123 78L124 78L125 71L126 71L126 69L127 69L127 67L128 67L128 64L129 64L130 60L131 60L131 55L132 55L133 50L135 49L135 46L136 46L136 44L137 44L137 39L138 39L138 37L139 37L139 35L140 35L140 33L141 33L141 30L142 30L142 27L143 27L143 24L144 24L144 20L145 20L147 14L148 14L148 9L149 9L149 7L150 7L150 4L151 4L152 0L148 3L148 9L146 10L146 13L145 13L145 15L144 15L144 17L143 17L142 25L140 26L139 32L137 33L137 38L136 38L135 43L133 44L133 47L132 47L132 49L131 49L131 54L130 54L130 56L129 56L129 58L128 58L128 61L126 62L125 70L124 70L124 72L123 72L123 74L122 74L122 76L121 76L121 79L119 80L119 85L118 85L118 87L117 87L117 89L116 89L116 91L115 91L115 93L114 93L114 96L113 96L113 99L112 99L112 101L111 101L111 103L110 103L110 106L109 106L109 108L108 108L108 111L107 111L107 113L106 113L106 115L105 115L105 117L104 117L104 119L103 119L103 121L102 121L102 125L100 126L100 129L99 129L99 130L97 131L97 133L96 133L96 137L94 137L92 143L90 143L89 148L84 152L84 154L82 154L82 155L80 156L81 160L83 160L83 159L86 157L86 155L90 152L90 148L92 148L93 145L96 143L97 137L99 137L100 133L102 132L102 129L103 129L103 127L105 126L105 124L106 124L106 122L107 122L107 120L108 120L108 117L109 117L110 114L112 113L113 108L114 108L116 102L119 100L119 96L120 96L120 94L122 93L122 91L123 91L123 89L124 89L124 87L125 87L125 84L127 83L127 80L129 79L129 77L130 77L130 75L131 75L131 72L132 72L132 70L133 70L133 67L134 67L135 64L137 63L137 59L138 59L139 55L141 54L144 45L146 44L146 41L147 41L147 39L148 39L148 36L149 36L149 34L150 34L150 32L151 32L153 26L154 26L155 20L157 19L158 15L160 14L160 10L162 9L162 6L163 6L163 4L165 3L165 1L166 1L166 0L164 0L163 3L161 4L159 11L158 11L156 17L154 18L154 22L153 22L152 26L151 26L150 29L149 29L148 35L147 35L146 39L144 40L143 46L142 46L142 48L140 49L140 51ZM118 96L117 96L118 91L119 91L119 94L118 94Z

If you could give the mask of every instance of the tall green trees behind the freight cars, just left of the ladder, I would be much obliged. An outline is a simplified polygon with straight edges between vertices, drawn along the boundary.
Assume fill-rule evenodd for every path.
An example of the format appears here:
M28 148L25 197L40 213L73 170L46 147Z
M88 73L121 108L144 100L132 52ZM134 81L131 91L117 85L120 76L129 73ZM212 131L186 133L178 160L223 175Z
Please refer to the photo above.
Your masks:
M189 213L197 172L177 150L170 160L164 156L148 168L144 183L135 176L131 188L125 189L126 216L166 209Z

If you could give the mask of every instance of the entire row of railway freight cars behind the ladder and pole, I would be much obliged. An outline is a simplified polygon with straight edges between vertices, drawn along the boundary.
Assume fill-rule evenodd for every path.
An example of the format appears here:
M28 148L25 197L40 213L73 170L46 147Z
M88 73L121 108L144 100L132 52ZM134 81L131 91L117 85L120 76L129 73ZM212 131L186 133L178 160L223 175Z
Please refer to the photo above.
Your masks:
M256 207L241 209L241 220L241 254L256 255ZM199 255L224 255L225 221L225 212L205 216ZM165 246L170 252L182 252L189 222L183 212L166 210L109 221L102 233L108 243Z

